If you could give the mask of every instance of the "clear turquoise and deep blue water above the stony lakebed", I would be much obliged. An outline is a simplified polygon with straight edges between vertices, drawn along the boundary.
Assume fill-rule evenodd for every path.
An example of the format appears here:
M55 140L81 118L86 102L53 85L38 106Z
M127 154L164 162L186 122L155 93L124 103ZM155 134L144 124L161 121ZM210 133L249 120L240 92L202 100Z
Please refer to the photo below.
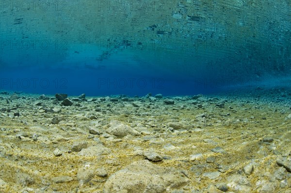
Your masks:
M1 90L144 96L290 86L288 0L0 6Z

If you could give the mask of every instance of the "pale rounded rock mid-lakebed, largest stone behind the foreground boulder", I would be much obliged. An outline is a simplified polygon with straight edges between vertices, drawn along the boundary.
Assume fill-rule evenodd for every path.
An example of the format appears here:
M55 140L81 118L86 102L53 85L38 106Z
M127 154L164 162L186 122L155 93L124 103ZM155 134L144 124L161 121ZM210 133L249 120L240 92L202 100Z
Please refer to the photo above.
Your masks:
M106 132L109 134L113 134L117 137L124 137L128 134L133 135L133 136L141 135L138 131L132 129L131 127L125 124L118 124L118 125L113 124L113 126L109 127L106 130Z

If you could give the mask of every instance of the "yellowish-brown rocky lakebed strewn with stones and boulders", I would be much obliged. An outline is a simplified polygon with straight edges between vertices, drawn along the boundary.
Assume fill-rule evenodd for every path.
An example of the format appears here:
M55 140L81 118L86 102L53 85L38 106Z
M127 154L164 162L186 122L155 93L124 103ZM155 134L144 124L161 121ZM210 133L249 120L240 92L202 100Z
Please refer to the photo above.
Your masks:
M291 193L291 93L0 93L1 193Z

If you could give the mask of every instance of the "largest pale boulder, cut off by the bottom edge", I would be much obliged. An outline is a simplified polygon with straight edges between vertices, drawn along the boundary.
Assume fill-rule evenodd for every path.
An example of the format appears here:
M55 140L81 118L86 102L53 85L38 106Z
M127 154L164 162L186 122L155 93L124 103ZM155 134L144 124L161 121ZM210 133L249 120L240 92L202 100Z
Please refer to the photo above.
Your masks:
M104 193L164 193L189 183L181 171L160 167L147 160L135 162L111 175L104 184Z

